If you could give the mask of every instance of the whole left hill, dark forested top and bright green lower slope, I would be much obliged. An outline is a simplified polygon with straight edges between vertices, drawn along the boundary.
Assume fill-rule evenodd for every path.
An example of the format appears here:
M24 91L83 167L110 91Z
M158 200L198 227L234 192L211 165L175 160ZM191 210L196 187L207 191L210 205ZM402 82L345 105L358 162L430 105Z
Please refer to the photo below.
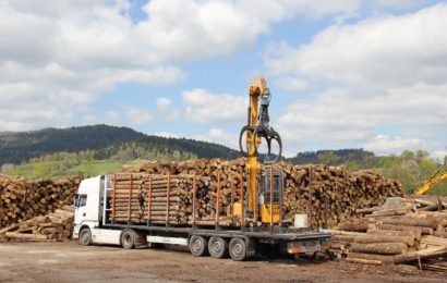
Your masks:
M113 172L138 160L234 159L225 146L108 125L0 133L1 173L35 177Z

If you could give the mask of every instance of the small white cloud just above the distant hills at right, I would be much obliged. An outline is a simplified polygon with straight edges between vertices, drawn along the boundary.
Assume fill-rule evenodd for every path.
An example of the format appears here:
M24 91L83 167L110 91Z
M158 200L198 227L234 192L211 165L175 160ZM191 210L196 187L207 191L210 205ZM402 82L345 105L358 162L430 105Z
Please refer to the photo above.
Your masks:
M389 155L402 152L403 150L419 150L426 148L424 140L412 137L402 138L400 136L378 135L364 145L364 149L374 151L378 155Z

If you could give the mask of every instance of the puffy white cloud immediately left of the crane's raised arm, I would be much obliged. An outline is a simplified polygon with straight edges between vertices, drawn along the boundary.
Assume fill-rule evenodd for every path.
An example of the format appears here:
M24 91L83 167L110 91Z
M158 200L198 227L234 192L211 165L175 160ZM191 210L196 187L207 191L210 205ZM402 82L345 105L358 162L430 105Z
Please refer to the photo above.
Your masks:
M224 124L243 121L247 98L212 94L202 88L183 91L186 119L198 124Z

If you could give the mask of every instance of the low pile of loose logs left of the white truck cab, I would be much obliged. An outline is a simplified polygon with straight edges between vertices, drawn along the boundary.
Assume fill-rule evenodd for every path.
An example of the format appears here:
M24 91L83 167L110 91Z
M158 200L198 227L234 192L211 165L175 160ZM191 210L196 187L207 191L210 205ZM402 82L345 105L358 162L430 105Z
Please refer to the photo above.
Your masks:
M0 241L68 241L73 234L74 207L63 206L44 217L36 217L0 230Z

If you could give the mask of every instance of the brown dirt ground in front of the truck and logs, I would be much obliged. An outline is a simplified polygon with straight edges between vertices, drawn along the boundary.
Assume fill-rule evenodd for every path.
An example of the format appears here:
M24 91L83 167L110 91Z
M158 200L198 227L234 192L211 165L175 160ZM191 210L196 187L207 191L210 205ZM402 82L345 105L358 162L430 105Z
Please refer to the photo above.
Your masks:
M446 273L341 261L195 258L186 250L124 250L77 243L0 244L0 282L447 282Z

